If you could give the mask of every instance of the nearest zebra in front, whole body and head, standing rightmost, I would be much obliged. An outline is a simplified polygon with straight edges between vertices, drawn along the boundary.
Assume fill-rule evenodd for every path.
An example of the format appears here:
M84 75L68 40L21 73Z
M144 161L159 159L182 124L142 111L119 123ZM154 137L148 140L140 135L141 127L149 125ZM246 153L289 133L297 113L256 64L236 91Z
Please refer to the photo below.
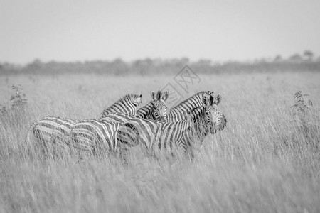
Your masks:
M193 146L202 143L208 133L215 133L225 127L225 116L218 111L221 96L204 95L202 106L196 107L187 119L176 122L160 122L150 119L130 119L119 126L117 141L123 158L129 147L141 144L144 150L154 155L160 153L191 153ZM124 159L125 160L125 159Z

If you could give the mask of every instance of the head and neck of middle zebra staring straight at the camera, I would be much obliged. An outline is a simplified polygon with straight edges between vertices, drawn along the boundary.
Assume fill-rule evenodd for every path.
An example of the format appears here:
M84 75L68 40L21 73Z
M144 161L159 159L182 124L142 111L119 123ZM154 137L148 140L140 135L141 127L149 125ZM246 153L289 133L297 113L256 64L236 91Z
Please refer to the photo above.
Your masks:
M151 92L151 101L137 111L137 117L141 119L151 119L156 121L166 121L166 99L169 91L162 93Z

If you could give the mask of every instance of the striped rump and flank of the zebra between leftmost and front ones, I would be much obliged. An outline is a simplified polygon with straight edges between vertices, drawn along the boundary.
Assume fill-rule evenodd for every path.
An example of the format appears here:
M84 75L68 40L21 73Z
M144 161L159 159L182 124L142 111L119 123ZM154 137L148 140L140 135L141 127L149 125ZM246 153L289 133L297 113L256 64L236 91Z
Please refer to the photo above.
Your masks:
M114 136L118 129L119 123L95 119L80 121L70 131L70 143L80 153L117 152L119 145Z

